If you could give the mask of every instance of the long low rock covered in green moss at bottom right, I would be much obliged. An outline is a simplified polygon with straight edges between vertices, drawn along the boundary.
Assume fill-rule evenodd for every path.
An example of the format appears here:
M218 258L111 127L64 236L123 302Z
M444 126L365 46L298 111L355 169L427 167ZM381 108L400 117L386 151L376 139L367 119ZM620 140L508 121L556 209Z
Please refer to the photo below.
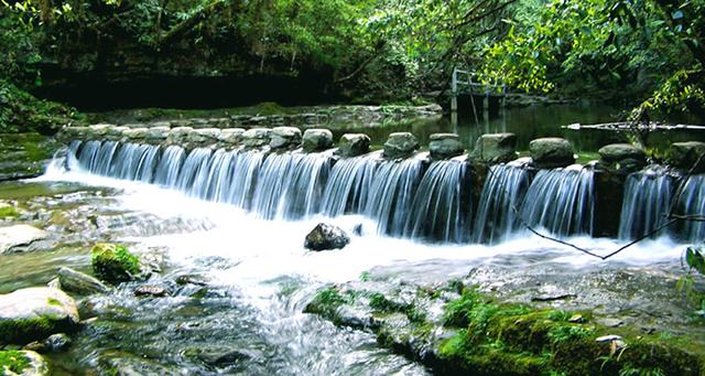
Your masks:
M421 288L410 302L400 303L390 291L328 287L306 312L372 330L382 346L441 375L699 375L705 369L702 348L634 329L606 327L587 311L505 303L467 288L446 302L455 290ZM440 318L434 314L438 303L444 303ZM368 310L356 310L364 307ZM362 316L343 320L346 312ZM355 322L371 324L349 324Z

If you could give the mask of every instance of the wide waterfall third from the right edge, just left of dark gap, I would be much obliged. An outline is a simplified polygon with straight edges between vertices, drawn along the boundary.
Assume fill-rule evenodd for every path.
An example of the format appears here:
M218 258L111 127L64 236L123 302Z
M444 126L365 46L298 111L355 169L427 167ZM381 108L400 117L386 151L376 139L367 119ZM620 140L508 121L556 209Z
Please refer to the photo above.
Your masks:
M522 218L532 227L544 227L558 236L592 235L593 170L575 165L539 171L522 206Z

